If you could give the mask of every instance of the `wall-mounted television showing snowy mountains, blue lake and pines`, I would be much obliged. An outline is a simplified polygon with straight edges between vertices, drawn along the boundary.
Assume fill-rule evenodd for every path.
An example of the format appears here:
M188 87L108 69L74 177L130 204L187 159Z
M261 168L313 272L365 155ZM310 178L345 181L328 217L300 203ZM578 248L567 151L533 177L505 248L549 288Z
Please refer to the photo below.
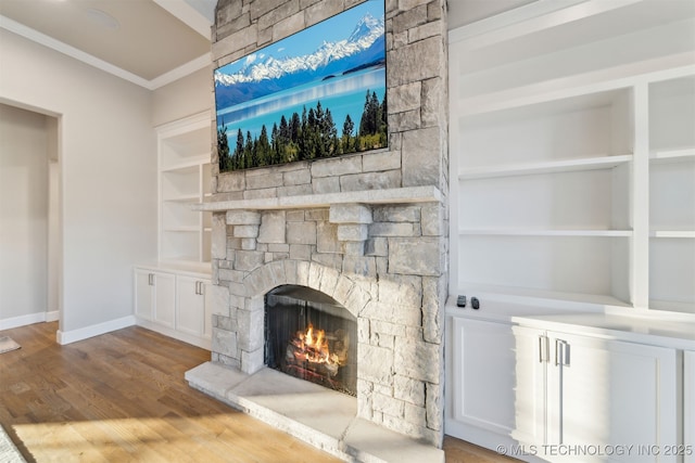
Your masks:
M220 172L388 146L384 0L215 69Z

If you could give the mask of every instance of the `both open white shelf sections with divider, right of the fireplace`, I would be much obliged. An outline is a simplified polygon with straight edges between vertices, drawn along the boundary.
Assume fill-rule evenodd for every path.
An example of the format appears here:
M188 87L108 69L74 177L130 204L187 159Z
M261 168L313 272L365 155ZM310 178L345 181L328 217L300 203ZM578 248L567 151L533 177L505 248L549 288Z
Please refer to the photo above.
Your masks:
M695 313L694 75L462 101L455 291Z

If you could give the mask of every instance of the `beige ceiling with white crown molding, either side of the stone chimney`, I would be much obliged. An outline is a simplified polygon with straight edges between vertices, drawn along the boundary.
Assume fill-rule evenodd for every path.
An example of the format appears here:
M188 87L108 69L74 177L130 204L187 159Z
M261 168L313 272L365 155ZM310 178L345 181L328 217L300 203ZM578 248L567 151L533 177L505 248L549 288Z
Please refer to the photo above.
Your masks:
M448 28L534 1L447 0ZM0 27L155 89L210 65L216 2L0 0Z

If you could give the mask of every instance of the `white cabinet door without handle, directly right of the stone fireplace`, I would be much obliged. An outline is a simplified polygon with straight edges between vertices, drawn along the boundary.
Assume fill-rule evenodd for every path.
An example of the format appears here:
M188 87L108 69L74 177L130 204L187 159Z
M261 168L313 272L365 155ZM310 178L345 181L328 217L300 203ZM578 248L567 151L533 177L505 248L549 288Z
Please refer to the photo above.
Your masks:
M508 436L514 429L515 340L511 325L454 318L452 415Z

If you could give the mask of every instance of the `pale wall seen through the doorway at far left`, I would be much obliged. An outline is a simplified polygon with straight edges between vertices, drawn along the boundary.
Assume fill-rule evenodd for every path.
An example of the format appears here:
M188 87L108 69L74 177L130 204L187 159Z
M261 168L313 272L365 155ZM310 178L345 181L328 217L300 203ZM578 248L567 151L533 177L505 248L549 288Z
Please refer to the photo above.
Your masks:
M0 326L48 309L48 117L0 104Z

